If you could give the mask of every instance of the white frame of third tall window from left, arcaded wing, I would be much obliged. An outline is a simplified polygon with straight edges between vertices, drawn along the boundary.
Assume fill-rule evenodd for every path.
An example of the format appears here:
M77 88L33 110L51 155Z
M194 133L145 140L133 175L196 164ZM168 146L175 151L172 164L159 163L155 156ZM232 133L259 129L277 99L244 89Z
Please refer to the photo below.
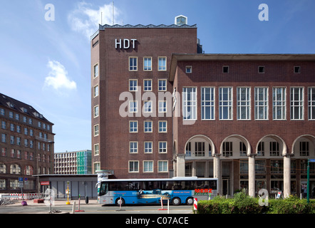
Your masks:
M227 100L224 100L224 90L227 89ZM227 118L224 118L224 112L227 111ZM233 120L233 88L219 88L219 120Z

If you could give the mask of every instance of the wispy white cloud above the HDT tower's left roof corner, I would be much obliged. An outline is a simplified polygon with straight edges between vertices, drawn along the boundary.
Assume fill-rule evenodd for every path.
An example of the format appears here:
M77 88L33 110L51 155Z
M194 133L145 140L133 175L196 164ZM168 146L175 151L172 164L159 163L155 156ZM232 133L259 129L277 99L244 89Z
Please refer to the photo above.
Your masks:
M102 15L102 21L100 17ZM114 22L118 20L120 11L114 6ZM73 31L83 33L88 39L98 30L98 24L113 24L113 4L92 9L92 4L78 3L76 9L68 15L68 23Z

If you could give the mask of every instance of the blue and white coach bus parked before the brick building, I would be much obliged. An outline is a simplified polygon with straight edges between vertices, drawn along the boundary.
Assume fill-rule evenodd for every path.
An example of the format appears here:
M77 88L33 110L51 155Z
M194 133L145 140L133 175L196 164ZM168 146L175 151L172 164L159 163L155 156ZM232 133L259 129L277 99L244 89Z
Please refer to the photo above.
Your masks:
M217 196L217 178L173 177L168 179L106 179L98 182L100 204L192 205L194 197Z

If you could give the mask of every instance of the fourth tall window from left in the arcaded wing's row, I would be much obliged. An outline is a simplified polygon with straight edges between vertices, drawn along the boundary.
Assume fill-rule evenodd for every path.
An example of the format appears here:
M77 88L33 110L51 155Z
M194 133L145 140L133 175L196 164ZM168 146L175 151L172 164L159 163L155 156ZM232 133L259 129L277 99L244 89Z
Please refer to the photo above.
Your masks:
M250 120L250 88L237 88L237 120Z

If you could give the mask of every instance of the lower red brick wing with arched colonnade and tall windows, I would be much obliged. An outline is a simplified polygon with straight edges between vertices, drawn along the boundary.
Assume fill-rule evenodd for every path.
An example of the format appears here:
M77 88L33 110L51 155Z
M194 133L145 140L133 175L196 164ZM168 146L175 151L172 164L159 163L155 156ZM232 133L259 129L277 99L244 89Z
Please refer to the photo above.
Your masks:
M172 55L176 175L217 177L223 195L303 193L315 157L314 63L315 55Z

